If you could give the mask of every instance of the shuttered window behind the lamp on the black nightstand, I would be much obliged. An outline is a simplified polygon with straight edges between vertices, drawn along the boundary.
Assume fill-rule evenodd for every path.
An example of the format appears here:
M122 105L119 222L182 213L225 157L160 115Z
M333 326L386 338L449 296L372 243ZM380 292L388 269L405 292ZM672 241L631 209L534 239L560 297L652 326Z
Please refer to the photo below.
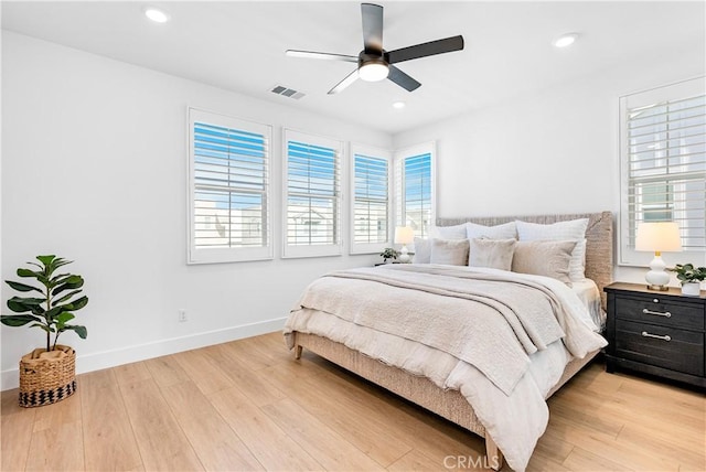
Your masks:
M699 264L706 255L706 87L686 81L620 99L620 261L648 265L653 255L634 250L642 222L676 222L684 253Z

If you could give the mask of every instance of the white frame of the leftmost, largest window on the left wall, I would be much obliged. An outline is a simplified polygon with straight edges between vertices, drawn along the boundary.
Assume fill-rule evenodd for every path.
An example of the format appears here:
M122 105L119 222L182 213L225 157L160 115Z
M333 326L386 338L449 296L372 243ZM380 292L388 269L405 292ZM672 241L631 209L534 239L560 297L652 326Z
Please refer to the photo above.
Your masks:
M188 107L188 189L189 189L189 211L188 211L188 250L186 250L186 264L200 265L200 264L222 264L222 262L242 262L253 260L270 260L274 258L274 245L272 245L272 190L271 190L271 142L272 142L272 128L269 125L263 125L254 121L244 120L218 112L207 111L200 108ZM197 184L195 180L195 155L194 155L194 125L196 122L206 122L208 125L224 127L229 129L237 129L239 131L253 132L261 135L265 139L265 192L264 205L265 218L260 221L260 224L265 225L265 238L266 244L264 246L247 246L247 247L214 247L204 248L196 247L196 217L195 217L195 193Z

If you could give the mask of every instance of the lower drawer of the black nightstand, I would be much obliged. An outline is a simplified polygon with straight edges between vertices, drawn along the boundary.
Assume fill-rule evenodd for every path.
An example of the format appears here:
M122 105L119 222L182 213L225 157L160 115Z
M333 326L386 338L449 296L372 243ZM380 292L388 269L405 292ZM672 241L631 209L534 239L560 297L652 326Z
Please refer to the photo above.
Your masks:
M616 355L704 376L704 333L616 320Z

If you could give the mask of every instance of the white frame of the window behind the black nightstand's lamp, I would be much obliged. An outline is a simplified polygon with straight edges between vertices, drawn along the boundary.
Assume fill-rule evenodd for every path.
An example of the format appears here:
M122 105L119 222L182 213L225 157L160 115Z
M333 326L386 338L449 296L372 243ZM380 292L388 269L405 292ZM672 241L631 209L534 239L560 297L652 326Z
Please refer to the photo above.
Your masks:
M643 106L649 106L652 104L659 104L664 101L678 101L685 99L691 96L697 96L706 93L706 77L697 77L687 81L682 81L678 83L638 92L633 94L628 94L621 96L619 99L620 105L620 217L618 222L618 265L627 266L627 267L646 267L650 261L654 257L654 254L648 251L637 251L634 250L634 244L631 244L631 227L637 227L638 221L631 217L630 208L630 143L629 143L629 119L628 114L629 110L640 108ZM670 138L667 138L668 140ZM663 158L667 159L667 158ZM667 165L668 169L668 165ZM668 172L664 173L665 175L665 185L675 185L674 183L668 183ZM678 174L677 174L678 175ZM704 178L706 180L706 176ZM657 180L655 180L657 181ZM695 180L695 182L700 182L700 180ZM672 190L668 193L668 196L673 195L675 190ZM671 207L668 207L670 203L665 203L664 211L674 212L680 211L678 208L674 208L674 203L671 201ZM655 219L656 221L656 219ZM663 219L659 219L663 221ZM704 215L704 225L706 226L706 215ZM681 227L681 225L680 225ZM632 236L634 237L634 235ZM678 255L670 255L668 264L674 265L676 261L682 260L685 262L693 262L695 265L702 265L700 261L706 259L706 248L704 249L685 249Z

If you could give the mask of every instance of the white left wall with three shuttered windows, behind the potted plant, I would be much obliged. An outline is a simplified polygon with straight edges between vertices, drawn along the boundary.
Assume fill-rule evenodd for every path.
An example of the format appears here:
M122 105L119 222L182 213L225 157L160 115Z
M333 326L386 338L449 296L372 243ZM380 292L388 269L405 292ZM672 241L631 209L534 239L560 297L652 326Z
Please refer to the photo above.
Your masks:
M88 339L61 341L78 372L279 330L317 276L379 259L282 260L276 245L271 261L186 266L186 106L274 125L277 223L282 127L389 149L385 133L10 32L2 106L2 280L40 254L75 260ZM2 326L2 389L42 334Z

